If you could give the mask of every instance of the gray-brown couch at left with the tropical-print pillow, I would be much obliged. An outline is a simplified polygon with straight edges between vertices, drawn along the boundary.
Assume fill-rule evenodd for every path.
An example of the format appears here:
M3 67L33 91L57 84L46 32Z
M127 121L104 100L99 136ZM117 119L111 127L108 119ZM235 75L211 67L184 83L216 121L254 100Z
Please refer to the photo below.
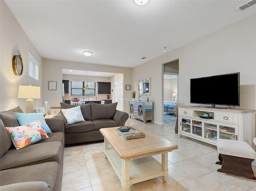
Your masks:
M64 157L64 122L46 118L49 138L16 150L6 127L20 126L15 112L0 112L0 190L61 191Z

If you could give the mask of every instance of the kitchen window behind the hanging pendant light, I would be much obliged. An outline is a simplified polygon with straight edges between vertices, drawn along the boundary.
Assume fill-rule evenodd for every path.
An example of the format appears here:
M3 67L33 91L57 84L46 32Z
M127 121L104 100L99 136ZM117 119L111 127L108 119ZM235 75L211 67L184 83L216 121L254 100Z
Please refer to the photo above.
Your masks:
M95 96L95 82L87 82L89 89L83 90L86 82L71 81L71 95L72 96Z

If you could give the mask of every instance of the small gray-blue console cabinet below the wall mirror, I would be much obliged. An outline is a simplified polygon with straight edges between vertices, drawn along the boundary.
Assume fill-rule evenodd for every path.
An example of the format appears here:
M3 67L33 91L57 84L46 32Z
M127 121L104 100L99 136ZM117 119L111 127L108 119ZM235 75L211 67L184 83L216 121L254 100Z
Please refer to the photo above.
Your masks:
M153 102L152 101L129 101L130 118L135 117L147 122L153 123Z

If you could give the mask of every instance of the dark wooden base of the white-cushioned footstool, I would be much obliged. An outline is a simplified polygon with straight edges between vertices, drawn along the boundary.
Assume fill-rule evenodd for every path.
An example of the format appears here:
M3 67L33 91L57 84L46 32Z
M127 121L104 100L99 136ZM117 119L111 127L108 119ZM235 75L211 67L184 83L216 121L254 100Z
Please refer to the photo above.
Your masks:
M221 169L217 170L218 172L230 173L256 180L256 177L252 171L252 161L254 161L254 159L224 154L221 155L221 158L223 159L222 166Z

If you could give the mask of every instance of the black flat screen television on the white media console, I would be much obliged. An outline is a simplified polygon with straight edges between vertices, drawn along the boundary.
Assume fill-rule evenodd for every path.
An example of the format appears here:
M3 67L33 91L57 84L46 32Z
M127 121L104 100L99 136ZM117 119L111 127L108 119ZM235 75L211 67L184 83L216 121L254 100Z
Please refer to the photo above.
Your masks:
M240 106L240 73L190 79L190 103Z

